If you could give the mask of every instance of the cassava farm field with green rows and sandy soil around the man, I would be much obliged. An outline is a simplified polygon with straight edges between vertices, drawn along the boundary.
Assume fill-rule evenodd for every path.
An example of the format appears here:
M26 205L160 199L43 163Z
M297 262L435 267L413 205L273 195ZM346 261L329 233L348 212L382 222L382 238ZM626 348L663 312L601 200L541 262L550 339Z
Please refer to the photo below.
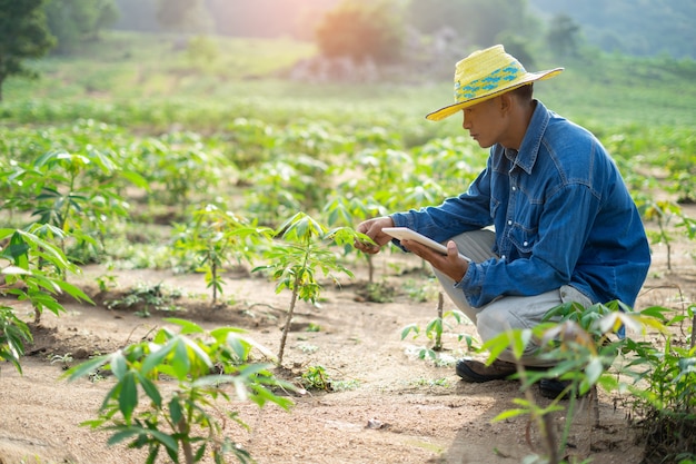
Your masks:
M449 77L310 86L284 78L294 59L314 53L307 45L225 41L212 69L170 47L168 38L115 33L83 58L37 63L41 80L10 81L4 92L3 228L41 219L70 230L64 238L34 233L77 264L66 279L95 304L62 295L64 312L44 309L34 324L29 302L2 298L33 336L21 374L0 365L2 464L145 462L145 451L108 446L108 433L79 425L96 417L113 377L67 382L64 369L176 330L172 317L207 330L243 328L275 354L291 292L270 268L279 256L272 244L299 243L282 236L284 223L298 224L287 221L302 213L334 230L437 204L484 166L486 152L464 137L458 118L424 119L449 98ZM612 72L628 62L599 63L601 81L617 82ZM657 62L632 61L629 81L614 86L569 63L537 95L598 135L644 214L653 267L635 309L686 314L696 298L696 95L688 85L696 65ZM647 77L656 83L636 92ZM476 337L470 324L449 320L437 363L418 356L432 344L425 330L401 338L405 327L422 329L437 315L438 289L420 260L385 249L367 261L349 246L311 239L318 256L328 251L330 272L316 269L316 304L294 308L277 369L306 391L281 392L294 402L289 411L223 404L249 426L228 421L227 436L269 464L513 463L543 450L528 416L491 422L517 407L519 383L470 385L454 374L456 358L484 357L459 339ZM674 343L690 337L688 320L670 329ZM634 335L664 343L655 330ZM317 367L321 376L311 377ZM329 382L312 388L317 379ZM539 405L550 404L531 391ZM598 392L598 422L588 398L573 415L568 458L640 462L632 396ZM553 424L561 434L565 412Z

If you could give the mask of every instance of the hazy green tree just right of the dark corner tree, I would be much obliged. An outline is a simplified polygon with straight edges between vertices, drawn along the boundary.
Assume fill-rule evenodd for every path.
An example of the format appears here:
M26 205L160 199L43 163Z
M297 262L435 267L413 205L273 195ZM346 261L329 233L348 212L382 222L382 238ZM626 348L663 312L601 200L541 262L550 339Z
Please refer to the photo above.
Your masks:
M99 38L99 32L119 18L115 0L50 0L46 17L58 39L57 51L70 52L79 43Z

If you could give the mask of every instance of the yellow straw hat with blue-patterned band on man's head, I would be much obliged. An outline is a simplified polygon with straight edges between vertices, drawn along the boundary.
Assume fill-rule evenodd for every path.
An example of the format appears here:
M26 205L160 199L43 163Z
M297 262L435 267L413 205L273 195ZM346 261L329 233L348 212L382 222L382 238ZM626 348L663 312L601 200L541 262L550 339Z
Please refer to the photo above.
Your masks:
M457 63L455 69L455 103L432 111L426 119L439 121L455 112L535 80L550 79L563 68L527 72L503 46L478 50Z

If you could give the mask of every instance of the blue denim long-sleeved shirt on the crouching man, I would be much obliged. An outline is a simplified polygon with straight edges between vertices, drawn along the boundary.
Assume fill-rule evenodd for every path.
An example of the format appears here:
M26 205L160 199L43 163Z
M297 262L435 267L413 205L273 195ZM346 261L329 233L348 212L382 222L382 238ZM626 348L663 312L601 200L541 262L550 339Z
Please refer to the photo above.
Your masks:
M633 306L650 265L635 203L589 131L536 105L519 152L493 146L468 191L391 218L437 241L495 226L500 259L471 263L456 284L474 307L563 285Z

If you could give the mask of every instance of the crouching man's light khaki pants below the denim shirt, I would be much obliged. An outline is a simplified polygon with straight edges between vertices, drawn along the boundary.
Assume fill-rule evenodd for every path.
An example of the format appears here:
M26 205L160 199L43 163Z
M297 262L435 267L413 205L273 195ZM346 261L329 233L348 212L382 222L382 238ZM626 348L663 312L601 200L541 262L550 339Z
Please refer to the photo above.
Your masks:
M457 244L459 253L468 256L475 263L481 263L490 258L497 258L491 251L495 243L495 234L490 230L474 230L453 237ZM491 303L475 308L469 305L464 292L455 288L455 282L432 269L439 279L445 293L474 324L483 342L486 342L501 332L510 328L533 328L541 322L544 315L553 307L564 303L579 303L588 307L593 302L569 285L564 285L555 290L546 292L535 296L504 296L494 299ZM547 366L551 363L538 359L534 352L538 346L528 346L521 357L521 363L526 366ZM503 361L515 362L510 351L503 352L499 356Z

